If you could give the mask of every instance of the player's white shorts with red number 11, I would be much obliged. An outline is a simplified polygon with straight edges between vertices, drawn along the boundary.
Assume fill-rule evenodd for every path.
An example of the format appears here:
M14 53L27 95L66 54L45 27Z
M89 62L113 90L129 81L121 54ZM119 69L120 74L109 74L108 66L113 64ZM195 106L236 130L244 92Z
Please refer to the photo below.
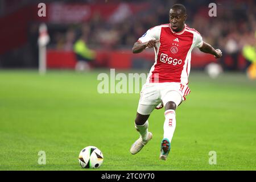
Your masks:
M189 93L188 86L179 82L146 83L142 86L137 112L148 115L156 107L165 106L169 101L178 106Z

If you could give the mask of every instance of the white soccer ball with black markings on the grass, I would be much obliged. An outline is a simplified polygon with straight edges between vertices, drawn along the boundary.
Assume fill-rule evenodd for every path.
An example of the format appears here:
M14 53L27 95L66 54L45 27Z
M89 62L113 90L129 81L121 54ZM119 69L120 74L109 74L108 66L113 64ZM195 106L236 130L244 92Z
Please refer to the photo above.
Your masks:
M99 168L102 162L103 154L97 147L85 147L79 154L79 164L82 168Z

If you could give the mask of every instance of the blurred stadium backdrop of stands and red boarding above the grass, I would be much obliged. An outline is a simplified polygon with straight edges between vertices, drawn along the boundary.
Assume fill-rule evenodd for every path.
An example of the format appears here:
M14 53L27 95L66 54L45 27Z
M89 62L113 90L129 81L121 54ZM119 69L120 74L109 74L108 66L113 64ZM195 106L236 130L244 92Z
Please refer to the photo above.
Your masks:
M84 53L93 59L94 68L150 68L154 52L132 55L134 42L151 27L168 23L168 11L174 3L187 7L189 27L196 28L205 42L220 48L224 56L195 50L192 69L217 61L225 70L245 72L250 60L243 47L255 45L255 1L44 1L46 17L38 16L40 1L1 0L0 68L38 67L38 29L48 26L48 68L74 69L77 56L74 44L82 39L96 51ZM217 17L208 15L209 3L216 2ZM121 61L120 61L121 60Z

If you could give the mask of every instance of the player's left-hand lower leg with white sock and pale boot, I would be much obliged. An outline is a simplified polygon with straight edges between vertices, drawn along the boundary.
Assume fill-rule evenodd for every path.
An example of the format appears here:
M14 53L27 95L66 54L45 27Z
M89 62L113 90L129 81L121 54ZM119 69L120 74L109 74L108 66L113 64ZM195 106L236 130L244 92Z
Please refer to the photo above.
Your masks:
M145 144L152 138L152 133L148 132L148 117L150 115L142 115L137 113L135 118L135 128L141 135L138 140L136 140L133 145L131 146L130 152L131 154L137 154Z

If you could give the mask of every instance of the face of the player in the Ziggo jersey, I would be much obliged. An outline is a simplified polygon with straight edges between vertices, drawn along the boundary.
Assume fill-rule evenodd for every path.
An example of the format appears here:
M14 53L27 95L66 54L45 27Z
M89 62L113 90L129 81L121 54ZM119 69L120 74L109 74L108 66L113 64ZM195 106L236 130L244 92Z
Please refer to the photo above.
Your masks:
M179 9L170 10L170 23L171 28L175 32L183 30L187 14L182 13Z

